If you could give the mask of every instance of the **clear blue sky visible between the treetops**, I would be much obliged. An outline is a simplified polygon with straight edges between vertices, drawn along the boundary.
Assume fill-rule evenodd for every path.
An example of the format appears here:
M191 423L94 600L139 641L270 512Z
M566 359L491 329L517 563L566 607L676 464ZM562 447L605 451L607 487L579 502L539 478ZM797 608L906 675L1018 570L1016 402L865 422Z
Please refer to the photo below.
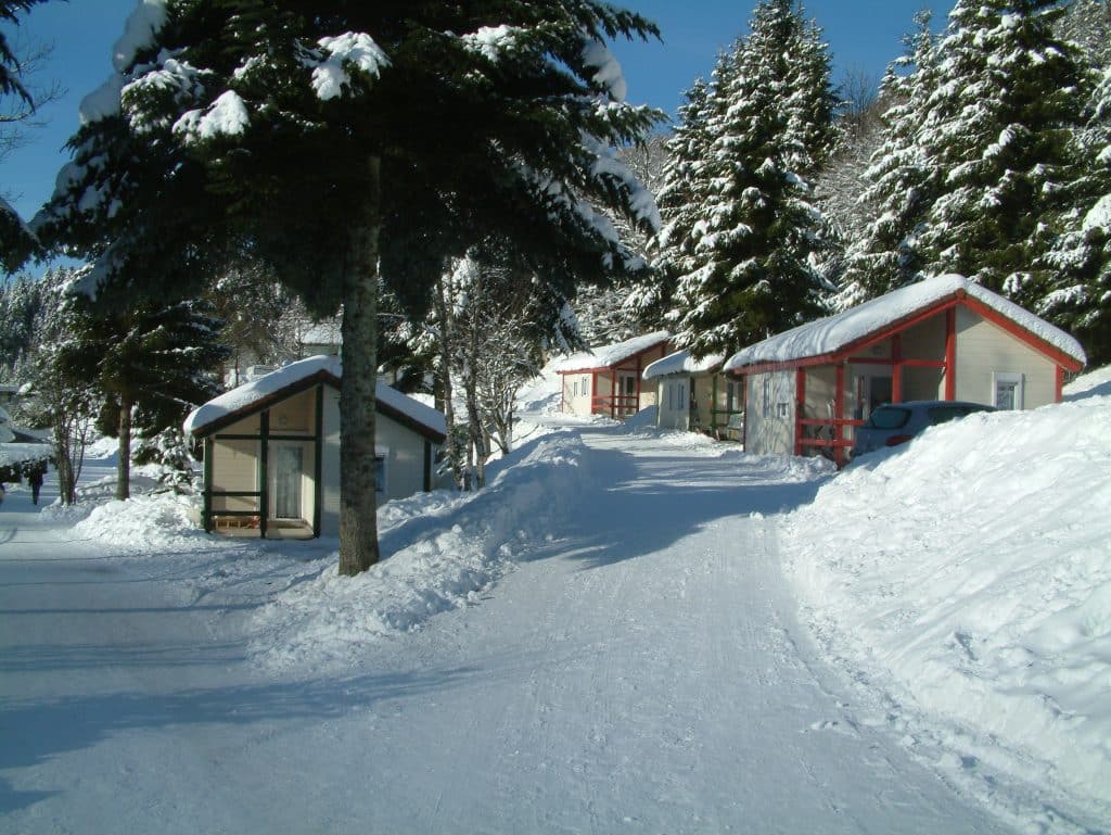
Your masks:
M804 7L825 32L837 82L847 70L878 80L901 52L901 39L912 29L914 12L928 7L937 19L943 19L952 2L804 0ZM59 80L69 91L42 113L48 127L32 135L32 145L0 166L0 190L11 196L24 217L50 197L54 177L69 158L63 146L77 129L78 103L110 73L112 43L134 4L136 0L53 0L34 7L21 27L31 39L53 43L51 64L41 74ZM614 44L630 101L673 115L683 91L697 77L709 74L718 51L747 30L755 0L617 0L617 4L654 20L663 33L662 44Z

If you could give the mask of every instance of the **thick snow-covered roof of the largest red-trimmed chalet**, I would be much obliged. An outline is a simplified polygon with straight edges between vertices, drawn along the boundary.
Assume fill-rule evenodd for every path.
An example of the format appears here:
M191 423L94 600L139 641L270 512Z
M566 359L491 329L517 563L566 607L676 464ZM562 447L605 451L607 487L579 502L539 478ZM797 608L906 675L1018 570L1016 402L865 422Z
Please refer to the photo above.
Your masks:
M725 362L725 370L761 362L791 362L808 357L837 354L885 327L952 298L960 291L964 291L970 298L990 307L1079 362L1087 361L1080 342L1060 328L963 276L947 275L928 278L835 316L828 316L769 337L730 357Z

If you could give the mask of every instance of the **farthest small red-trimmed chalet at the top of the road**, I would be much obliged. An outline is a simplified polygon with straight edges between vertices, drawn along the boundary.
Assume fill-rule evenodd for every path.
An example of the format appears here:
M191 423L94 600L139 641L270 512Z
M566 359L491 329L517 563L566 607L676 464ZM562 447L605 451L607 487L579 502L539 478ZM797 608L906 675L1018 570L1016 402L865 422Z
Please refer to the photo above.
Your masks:
M561 410L623 420L655 405L655 387L645 387L644 368L669 354L667 331L573 354L556 366L562 379Z

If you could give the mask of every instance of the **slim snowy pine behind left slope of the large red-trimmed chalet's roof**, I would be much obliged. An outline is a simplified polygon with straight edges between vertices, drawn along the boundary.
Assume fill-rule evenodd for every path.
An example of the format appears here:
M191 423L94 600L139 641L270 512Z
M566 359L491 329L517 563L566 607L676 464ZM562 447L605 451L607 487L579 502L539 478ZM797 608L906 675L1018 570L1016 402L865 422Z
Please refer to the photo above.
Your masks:
M918 236L938 188L933 160L919 130L939 83L931 14L914 16L907 52L888 68L880 88L887 103L882 140L864 171L860 203L867 221L850 239L834 306L845 309L917 281L922 258Z

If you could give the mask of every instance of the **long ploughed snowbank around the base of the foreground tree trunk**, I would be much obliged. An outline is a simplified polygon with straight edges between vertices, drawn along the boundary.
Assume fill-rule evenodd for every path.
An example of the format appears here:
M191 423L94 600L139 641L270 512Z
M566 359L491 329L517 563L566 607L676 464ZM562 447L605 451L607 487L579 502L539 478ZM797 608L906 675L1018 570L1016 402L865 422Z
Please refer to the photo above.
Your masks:
M486 489L444 503L431 494L422 516L389 516L382 551L358 577L340 577L337 556L319 577L280 595L254 618L251 652L270 668L349 667L361 646L419 628L466 606L512 567L516 555L558 529L583 473L582 441L571 434L541 438ZM391 503L392 504L392 503ZM381 518L381 517L380 517Z

